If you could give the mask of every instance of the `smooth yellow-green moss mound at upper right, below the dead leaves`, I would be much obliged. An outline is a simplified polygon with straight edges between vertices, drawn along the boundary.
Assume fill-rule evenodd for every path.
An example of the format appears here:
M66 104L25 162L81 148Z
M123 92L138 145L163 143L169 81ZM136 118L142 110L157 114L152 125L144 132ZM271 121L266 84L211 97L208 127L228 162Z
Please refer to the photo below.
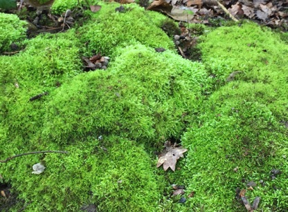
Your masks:
M267 104L278 119L287 117L288 46L278 35L255 23L244 23L209 33L200 48L215 86L223 85L234 71L242 72L235 78L246 83L224 87L226 95L257 100Z

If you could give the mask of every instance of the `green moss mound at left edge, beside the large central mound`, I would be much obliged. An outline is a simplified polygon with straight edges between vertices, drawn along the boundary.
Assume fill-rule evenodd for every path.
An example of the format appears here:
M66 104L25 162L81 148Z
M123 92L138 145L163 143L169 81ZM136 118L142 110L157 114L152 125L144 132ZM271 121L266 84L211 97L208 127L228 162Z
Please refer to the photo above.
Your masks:
M78 42L73 35L71 31L65 35L39 36L26 42L24 52L0 57L0 128L6 132L5 145L12 146L11 139L19 144L29 142L41 132L50 93L57 89L58 83L63 84L80 73ZM29 102L31 97L44 92L49 94Z

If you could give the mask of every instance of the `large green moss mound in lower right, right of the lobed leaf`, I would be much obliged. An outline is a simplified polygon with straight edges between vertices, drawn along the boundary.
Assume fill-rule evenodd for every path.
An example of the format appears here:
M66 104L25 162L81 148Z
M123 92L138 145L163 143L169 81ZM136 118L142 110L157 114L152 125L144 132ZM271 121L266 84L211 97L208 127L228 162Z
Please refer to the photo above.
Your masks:
M204 211L243 209L234 199L235 189L244 189L247 182L253 181L257 186L246 194L250 202L260 196L263 211L270 211L273 206L286 209L288 141L282 134L284 127L257 102L223 99L221 104L210 100L205 106L203 115L182 139L188 147L188 193L195 191L195 197L188 200L189 206L203 207ZM238 170L233 171L236 167ZM282 171L276 180L271 180L273 168Z

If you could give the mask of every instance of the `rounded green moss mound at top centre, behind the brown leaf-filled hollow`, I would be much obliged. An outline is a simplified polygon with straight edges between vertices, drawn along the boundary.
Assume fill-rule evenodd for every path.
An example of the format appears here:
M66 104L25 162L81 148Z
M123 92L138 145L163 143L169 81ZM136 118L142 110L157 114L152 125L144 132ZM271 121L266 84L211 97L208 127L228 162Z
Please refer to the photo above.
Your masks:
M101 52L110 56L116 47L141 43L152 48L173 50L174 44L165 32L156 26L150 12L134 4L125 7L125 12L116 12L120 4L111 3L94 15L95 19L85 24L78 34L82 43L87 43L87 54ZM152 17L155 17L152 13ZM163 15L159 15L161 19ZM159 21L156 20L159 24Z

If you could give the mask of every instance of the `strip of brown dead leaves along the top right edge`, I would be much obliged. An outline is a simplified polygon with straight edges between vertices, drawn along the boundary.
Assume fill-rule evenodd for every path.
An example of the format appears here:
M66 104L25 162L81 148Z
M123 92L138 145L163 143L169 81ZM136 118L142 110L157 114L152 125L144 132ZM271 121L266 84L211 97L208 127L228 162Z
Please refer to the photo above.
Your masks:
M269 26L287 25L287 1L264 0L156 0L147 10L156 10L177 21L188 23L208 23L211 17L219 18L229 15L231 19L249 18L262 21ZM174 14L174 11L177 13ZM191 12L191 14L189 13Z

